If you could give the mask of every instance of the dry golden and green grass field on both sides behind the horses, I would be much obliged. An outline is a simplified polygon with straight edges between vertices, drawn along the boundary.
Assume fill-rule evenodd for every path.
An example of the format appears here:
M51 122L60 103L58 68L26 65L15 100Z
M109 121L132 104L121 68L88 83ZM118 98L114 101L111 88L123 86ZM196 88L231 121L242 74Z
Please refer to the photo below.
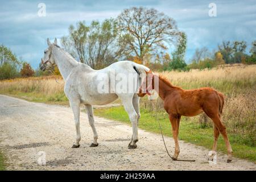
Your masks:
M163 72L174 85L184 89L213 87L225 94L224 121L234 156L256 162L256 65L233 65L232 67L191 70L189 72ZM60 84L53 76L36 78L18 78L0 81L0 94L8 94L28 101L46 102L48 104L68 104L63 93L64 81L57 76ZM152 104L163 125L164 135L171 136L171 126L167 114L162 109L162 101L141 100L141 121L139 127L159 133L158 123L152 115ZM97 109L94 111L101 117L130 123L122 107ZM199 122L199 117L181 120L179 139L211 148L213 131L211 122ZM218 150L226 152L222 137L218 142Z

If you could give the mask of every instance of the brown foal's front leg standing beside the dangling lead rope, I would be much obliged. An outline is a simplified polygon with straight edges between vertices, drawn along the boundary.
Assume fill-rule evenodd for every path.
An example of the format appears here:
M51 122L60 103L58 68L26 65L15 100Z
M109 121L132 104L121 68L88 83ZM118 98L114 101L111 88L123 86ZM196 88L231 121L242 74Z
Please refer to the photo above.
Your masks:
M180 147L179 147L179 140L178 140L178 133L179 133L178 120L180 121L180 117L177 117L177 115L174 115L174 114L170 114L169 119L171 121L172 136L174 137L174 142L175 142L175 152L174 152L174 156L172 156L172 159L177 160L177 157L180 154Z

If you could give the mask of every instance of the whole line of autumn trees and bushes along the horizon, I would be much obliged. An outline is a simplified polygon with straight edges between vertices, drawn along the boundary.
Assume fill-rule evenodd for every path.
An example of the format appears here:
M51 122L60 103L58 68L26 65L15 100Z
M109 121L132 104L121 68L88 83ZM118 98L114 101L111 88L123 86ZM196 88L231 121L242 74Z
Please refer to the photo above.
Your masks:
M61 46L77 61L94 69L104 68L115 61L130 60L153 70L204 69L220 64L255 64L256 40L246 53L245 41L222 42L217 51L196 49L191 64L185 63L187 35L179 31L171 17L155 9L132 7L117 18L102 22L84 21L69 26L69 34L61 38ZM175 50L170 52L172 46ZM30 64L20 61L5 46L0 47L0 79L40 76ZM55 68L55 73L59 73Z

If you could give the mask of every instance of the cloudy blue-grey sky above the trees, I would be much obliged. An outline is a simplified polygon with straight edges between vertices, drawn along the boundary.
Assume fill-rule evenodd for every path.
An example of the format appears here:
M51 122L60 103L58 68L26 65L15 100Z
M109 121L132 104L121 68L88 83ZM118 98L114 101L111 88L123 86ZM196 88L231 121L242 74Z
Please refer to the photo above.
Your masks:
M46 16L38 16L38 4L46 4ZM217 5L217 16L210 17L209 3ZM115 18L133 6L154 7L171 16L179 30L187 34L187 63L196 48L217 49L222 40L256 39L256 1L1 1L0 44L38 68L46 39L68 35L70 24L80 20Z

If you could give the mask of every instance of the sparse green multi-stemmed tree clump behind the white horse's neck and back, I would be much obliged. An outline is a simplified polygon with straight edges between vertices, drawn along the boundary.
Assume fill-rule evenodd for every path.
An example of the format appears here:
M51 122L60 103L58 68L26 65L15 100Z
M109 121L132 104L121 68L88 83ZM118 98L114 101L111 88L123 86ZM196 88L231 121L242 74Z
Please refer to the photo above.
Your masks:
M69 27L69 36L61 38L66 51L94 69L117 61L116 41L117 26L114 19L105 19L102 23L93 21L90 26L79 22L77 27Z

